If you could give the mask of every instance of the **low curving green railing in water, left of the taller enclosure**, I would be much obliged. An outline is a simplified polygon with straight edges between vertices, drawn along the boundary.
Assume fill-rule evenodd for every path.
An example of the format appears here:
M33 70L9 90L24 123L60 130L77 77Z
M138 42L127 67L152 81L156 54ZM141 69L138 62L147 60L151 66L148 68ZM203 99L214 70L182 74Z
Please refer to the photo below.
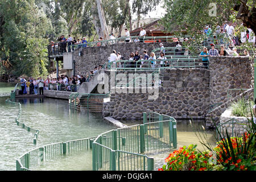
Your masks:
M70 140L48 144L30 150L16 159L16 171L30 171L31 168L44 162L56 159L61 155L74 154L78 151L92 150L92 142L96 137Z

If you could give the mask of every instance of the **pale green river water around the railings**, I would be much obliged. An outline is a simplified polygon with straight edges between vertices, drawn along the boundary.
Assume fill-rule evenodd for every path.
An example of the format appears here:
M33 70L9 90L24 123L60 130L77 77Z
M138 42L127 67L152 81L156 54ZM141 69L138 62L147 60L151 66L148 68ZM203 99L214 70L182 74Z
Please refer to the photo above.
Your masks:
M81 138L97 136L105 131L116 129L105 122L100 114L80 113L69 110L68 101L51 98L16 99L22 105L21 122L40 131L36 146L33 144L34 135L17 126L15 123L18 107L5 104L15 84L0 82L0 170L15 170L15 160L29 150L46 144L65 142ZM135 125L142 121L131 121L126 125ZM204 121L195 121L195 126L204 125ZM214 140L214 132L207 131L208 140ZM199 144L195 131L188 125L187 120L177 121L178 147ZM168 156L156 156L156 167L161 167ZM90 151L60 156L33 168L35 170L92 170L92 154Z

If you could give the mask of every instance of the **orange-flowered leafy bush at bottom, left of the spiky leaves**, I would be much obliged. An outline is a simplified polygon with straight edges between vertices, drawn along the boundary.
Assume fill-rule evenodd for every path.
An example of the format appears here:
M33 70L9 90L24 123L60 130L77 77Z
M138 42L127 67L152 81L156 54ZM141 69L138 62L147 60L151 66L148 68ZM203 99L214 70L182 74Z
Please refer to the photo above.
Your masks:
M197 152L196 146L191 144L175 150L165 159L167 165L158 171L205 171L213 168L213 164L209 164L212 154Z

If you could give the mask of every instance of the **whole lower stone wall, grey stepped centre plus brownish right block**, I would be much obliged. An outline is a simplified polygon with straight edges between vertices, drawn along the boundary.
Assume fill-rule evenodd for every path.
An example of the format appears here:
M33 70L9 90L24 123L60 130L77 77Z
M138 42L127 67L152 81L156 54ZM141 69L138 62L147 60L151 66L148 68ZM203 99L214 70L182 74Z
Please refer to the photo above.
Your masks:
M139 119L144 111L176 119L199 119L207 115L207 127L213 127L213 121L219 121L222 111L208 114L210 106L228 101L228 89L252 88L253 64L248 57L210 57L209 67L165 69L163 87L159 88L156 100L148 100L148 93L112 93L103 113L115 119Z

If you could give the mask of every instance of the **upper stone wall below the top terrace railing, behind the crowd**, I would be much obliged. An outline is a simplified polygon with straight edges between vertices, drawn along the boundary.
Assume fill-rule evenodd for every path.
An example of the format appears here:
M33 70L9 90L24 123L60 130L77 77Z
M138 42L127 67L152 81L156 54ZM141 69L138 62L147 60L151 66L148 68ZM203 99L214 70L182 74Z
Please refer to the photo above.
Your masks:
M175 43L163 42L164 47L173 47ZM75 63L75 75L86 75L96 65L104 65L108 62L108 57L113 50L120 52L125 59L129 59L130 53L139 51L140 55L143 55L143 51L146 50L148 55L156 48L159 48L159 43L116 43L109 46L99 47L86 47L77 49L73 54L73 60ZM82 56L79 56L79 52L82 51Z

